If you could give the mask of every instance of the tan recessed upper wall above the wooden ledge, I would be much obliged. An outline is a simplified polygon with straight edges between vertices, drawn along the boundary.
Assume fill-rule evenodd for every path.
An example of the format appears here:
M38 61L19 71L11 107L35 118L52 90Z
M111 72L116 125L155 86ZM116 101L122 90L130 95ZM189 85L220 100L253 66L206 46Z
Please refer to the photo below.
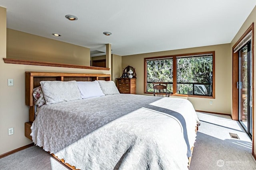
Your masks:
M90 49L7 29L7 58L90 66Z

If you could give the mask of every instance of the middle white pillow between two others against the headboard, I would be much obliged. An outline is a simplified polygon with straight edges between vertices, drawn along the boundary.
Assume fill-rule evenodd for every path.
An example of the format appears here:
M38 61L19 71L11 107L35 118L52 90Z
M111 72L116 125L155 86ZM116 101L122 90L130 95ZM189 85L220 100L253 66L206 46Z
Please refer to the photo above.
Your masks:
M82 99L105 96L96 80L93 82L77 82L77 85Z

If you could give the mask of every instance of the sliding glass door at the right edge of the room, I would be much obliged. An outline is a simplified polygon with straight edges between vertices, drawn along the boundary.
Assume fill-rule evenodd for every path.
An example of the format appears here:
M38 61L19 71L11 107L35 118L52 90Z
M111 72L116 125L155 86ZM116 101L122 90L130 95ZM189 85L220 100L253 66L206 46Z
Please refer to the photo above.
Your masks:
M239 50L239 121L252 137L252 63L251 41Z

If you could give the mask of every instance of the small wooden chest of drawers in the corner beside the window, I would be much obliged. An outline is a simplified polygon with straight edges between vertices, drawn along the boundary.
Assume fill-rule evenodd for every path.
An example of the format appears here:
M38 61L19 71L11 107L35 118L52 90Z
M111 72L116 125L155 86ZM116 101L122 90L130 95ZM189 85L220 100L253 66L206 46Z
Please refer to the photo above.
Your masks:
M120 93L136 94L136 78L117 78Z

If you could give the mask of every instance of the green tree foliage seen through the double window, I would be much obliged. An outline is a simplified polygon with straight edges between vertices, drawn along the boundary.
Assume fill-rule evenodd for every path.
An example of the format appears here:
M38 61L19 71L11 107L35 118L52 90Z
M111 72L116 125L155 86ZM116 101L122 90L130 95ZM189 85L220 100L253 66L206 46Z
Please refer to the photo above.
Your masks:
M212 57L190 57L177 60L177 92L193 94L192 84L210 83L212 72ZM172 92L173 59L147 61L147 82L169 82L168 92ZM170 86L169 86L170 85ZM210 91L210 85L205 86ZM147 84L147 92L153 92L152 83Z

